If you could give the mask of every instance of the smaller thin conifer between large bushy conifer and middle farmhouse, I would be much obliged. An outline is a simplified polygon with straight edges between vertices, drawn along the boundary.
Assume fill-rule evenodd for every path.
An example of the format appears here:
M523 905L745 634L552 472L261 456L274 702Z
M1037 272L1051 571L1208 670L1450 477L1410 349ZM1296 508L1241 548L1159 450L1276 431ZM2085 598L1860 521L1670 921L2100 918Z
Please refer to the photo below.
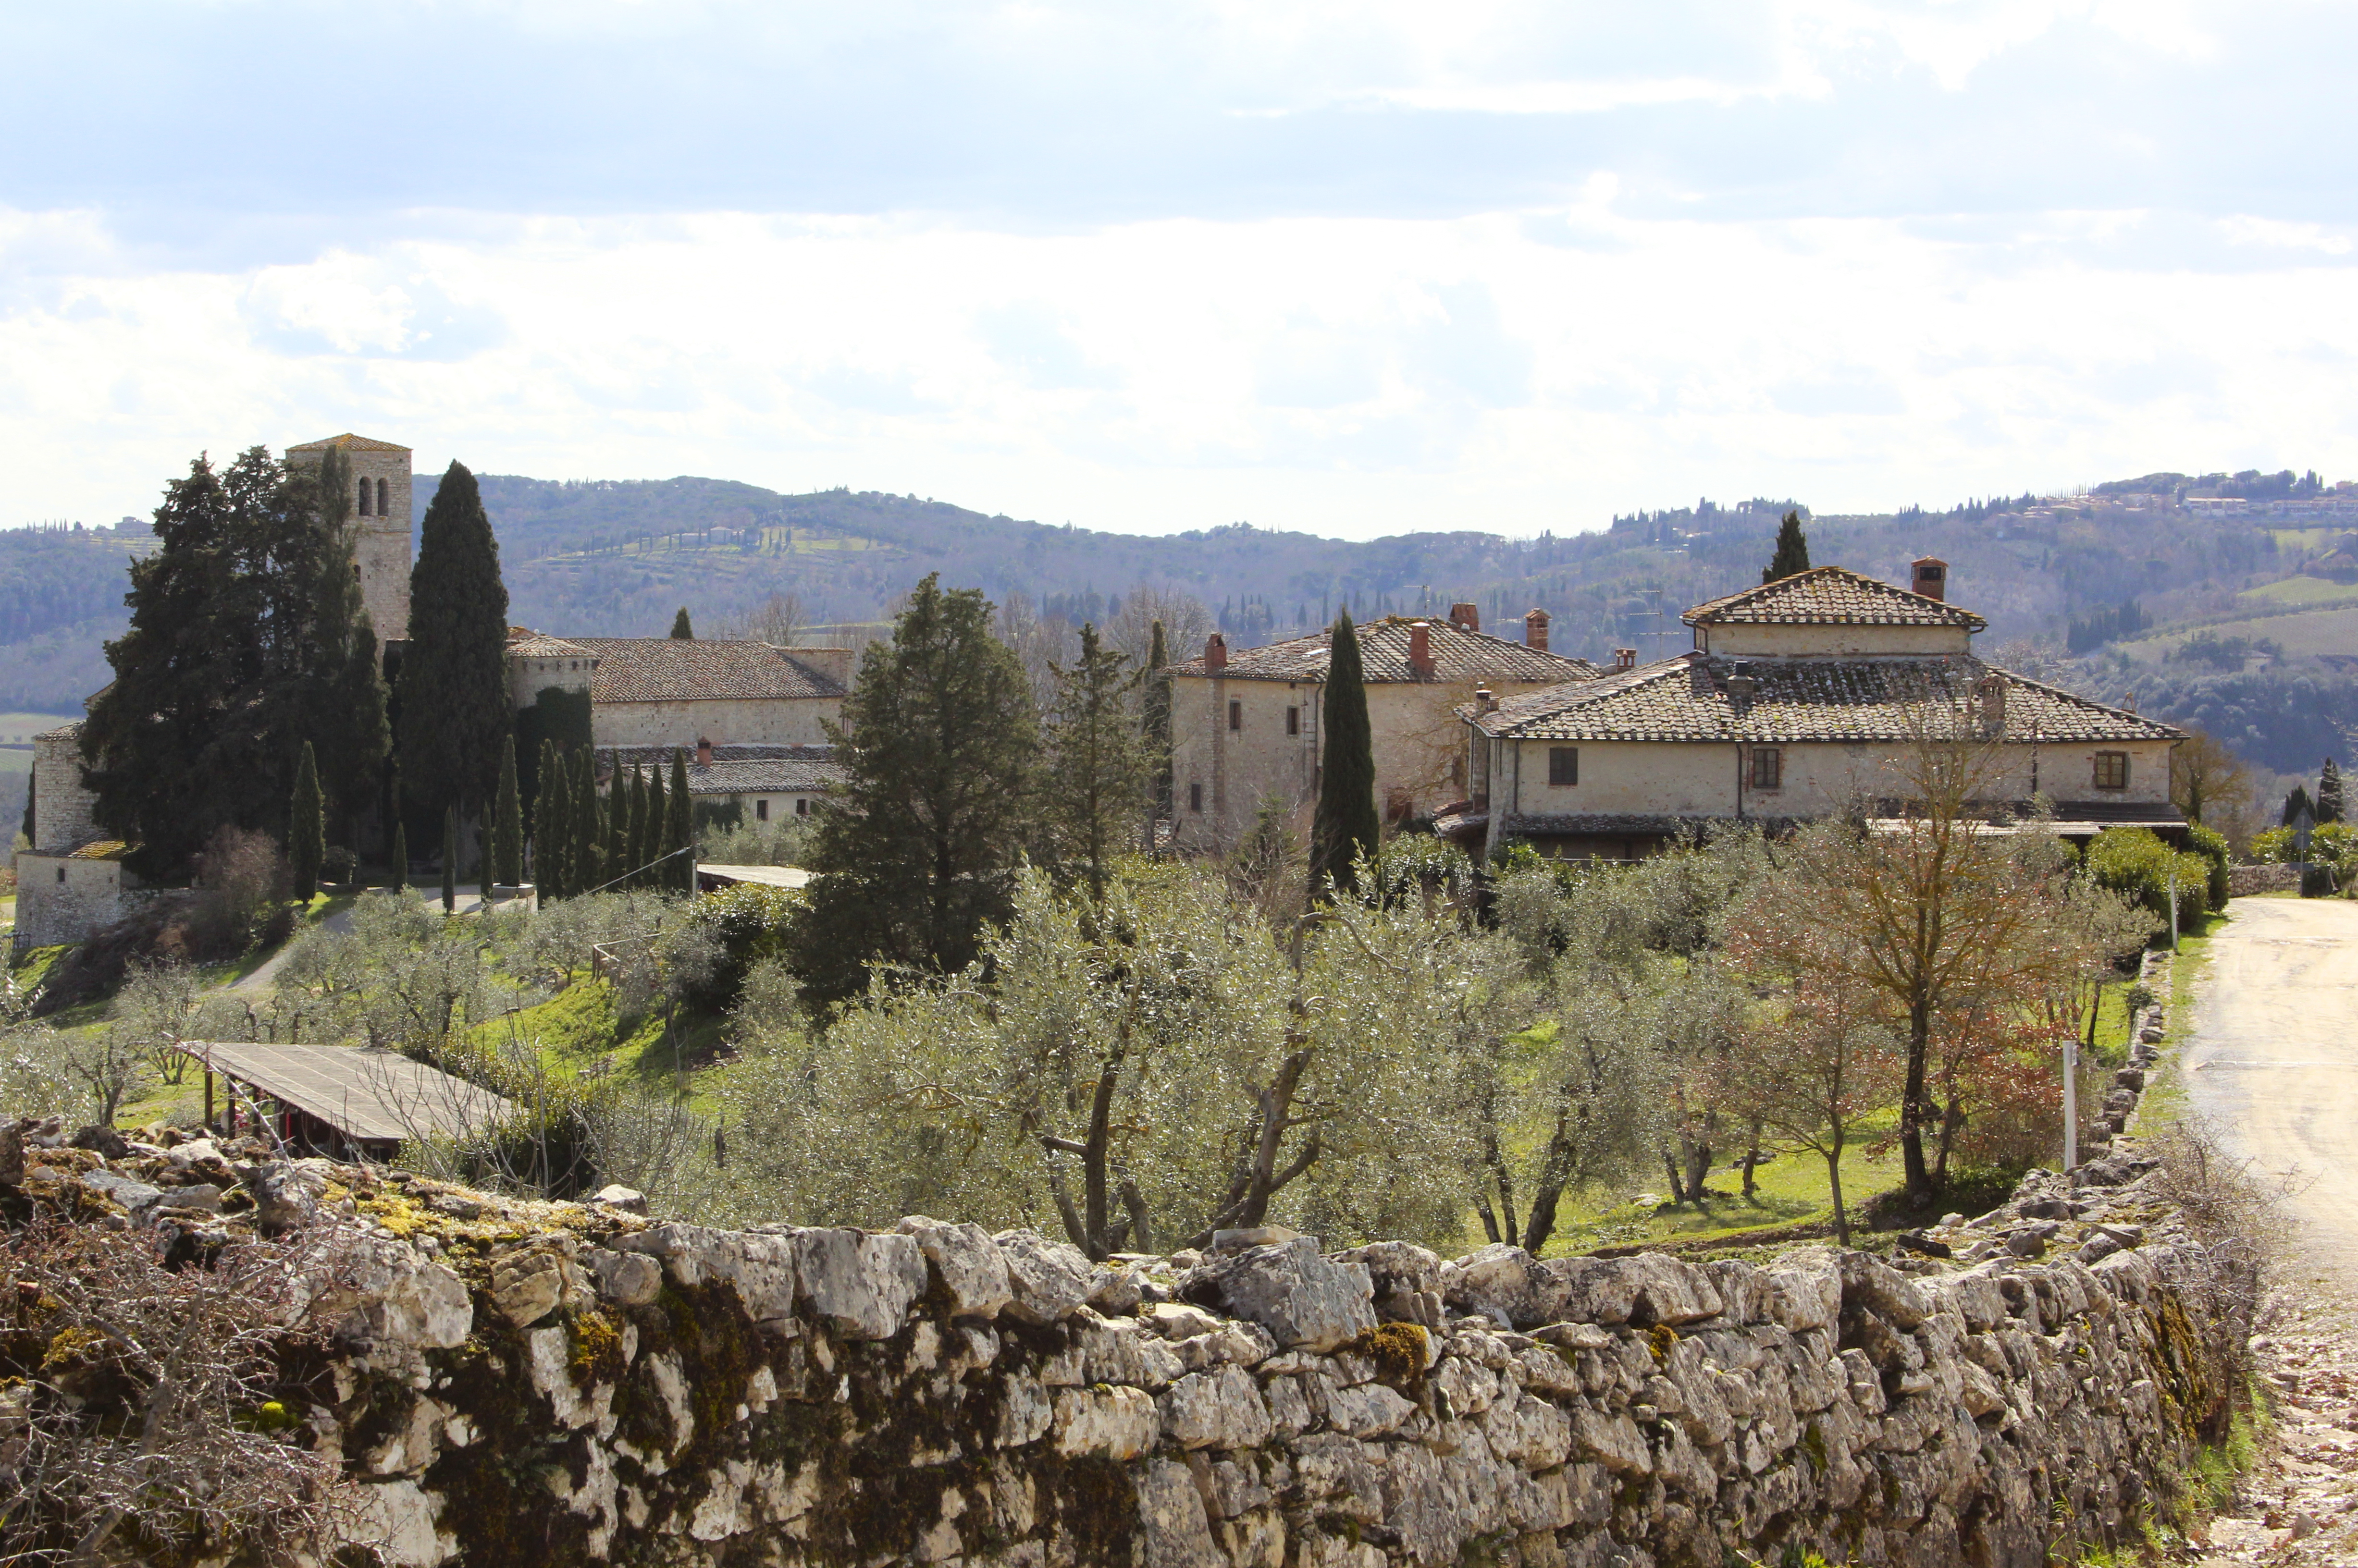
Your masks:
M1047 731L1042 804L1056 861L1089 884L1092 901L1101 901L1113 856L1137 842L1148 799L1148 755L1129 714L1141 672L1129 670L1129 655L1108 648L1087 622L1073 667L1049 670L1056 707Z

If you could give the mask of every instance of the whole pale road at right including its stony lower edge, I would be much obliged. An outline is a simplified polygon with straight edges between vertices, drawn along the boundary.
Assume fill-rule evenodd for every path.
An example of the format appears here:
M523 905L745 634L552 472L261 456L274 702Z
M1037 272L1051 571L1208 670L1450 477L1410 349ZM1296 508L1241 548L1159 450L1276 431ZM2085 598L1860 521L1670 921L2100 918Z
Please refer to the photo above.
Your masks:
M2252 1342L2273 1424L2205 1568L2358 1561L2358 903L2238 898L2184 1042L2191 1111L2266 1172L2299 1226Z

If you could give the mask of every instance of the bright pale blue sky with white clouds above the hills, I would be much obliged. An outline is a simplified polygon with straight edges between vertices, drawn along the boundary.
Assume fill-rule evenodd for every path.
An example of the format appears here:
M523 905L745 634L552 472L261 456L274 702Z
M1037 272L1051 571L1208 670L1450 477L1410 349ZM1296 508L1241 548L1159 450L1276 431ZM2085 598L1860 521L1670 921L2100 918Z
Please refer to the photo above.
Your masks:
M2358 5L0 0L0 523L354 429L1125 533L2358 476Z

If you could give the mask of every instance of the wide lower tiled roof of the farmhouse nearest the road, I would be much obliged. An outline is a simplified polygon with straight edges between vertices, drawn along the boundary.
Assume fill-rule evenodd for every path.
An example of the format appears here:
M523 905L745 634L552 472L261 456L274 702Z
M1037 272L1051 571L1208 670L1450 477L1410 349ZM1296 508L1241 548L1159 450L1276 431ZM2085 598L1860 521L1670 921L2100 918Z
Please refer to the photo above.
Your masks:
M2007 681L2007 740L2181 740L2184 731L1993 670L1978 658L1754 658L1747 703L1728 696L1738 660L1681 653L1636 670L1507 698L1483 733L1519 740L1908 740L1924 700L1964 705L1974 681ZM1471 710L1460 710L1471 717Z

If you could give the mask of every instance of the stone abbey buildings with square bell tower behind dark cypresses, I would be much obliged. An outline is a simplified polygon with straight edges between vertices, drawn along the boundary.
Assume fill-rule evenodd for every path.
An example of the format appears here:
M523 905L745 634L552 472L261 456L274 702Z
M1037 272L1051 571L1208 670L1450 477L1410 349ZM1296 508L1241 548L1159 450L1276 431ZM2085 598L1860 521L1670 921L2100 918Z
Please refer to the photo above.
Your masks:
M361 604L391 653L410 634L413 474L410 448L368 436L328 436L288 448L288 462L321 462L340 448L354 474L354 559ZM559 639L514 627L507 679L516 710L545 689L587 693L590 738L601 776L618 755L696 752L689 790L698 802L736 802L745 821L806 816L842 773L821 719L842 712L849 648L776 648L757 641L670 637ZM113 924L137 898L123 844L99 837L83 785L80 724L33 738L33 849L17 856L17 948L80 941Z

